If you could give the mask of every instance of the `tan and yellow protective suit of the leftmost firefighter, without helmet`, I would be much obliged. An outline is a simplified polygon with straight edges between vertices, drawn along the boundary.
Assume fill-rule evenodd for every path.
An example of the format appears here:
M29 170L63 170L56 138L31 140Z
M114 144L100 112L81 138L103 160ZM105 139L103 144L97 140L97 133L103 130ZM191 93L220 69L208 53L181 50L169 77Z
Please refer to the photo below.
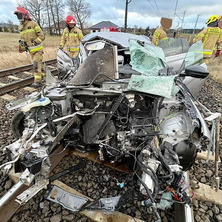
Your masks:
M34 67L34 82L41 82L42 80L42 60L43 47L42 41L45 39L44 33L40 26L30 20L26 20L19 26L20 39L25 41L28 46L28 51L31 55Z

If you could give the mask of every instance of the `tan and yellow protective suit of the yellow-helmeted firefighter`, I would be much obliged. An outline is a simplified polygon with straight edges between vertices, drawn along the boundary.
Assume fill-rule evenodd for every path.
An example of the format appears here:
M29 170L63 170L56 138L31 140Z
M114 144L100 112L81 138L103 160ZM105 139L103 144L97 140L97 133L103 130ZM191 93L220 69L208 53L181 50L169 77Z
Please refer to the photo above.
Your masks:
M218 50L222 49L222 31L218 27L207 27L203 29L194 38L193 42L202 41L203 43L203 62L209 63L213 55L213 50L217 46Z

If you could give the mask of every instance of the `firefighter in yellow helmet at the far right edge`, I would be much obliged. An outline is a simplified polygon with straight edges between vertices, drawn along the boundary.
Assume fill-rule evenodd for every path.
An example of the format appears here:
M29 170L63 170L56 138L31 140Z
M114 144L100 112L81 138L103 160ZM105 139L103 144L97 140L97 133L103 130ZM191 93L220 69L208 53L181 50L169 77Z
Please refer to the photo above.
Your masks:
M222 31L218 27L218 15L212 15L206 22L207 27L204 28L194 38L193 42L202 41L203 43L203 62L209 63L210 58L213 55L213 50L217 46L215 56L220 55L222 48Z

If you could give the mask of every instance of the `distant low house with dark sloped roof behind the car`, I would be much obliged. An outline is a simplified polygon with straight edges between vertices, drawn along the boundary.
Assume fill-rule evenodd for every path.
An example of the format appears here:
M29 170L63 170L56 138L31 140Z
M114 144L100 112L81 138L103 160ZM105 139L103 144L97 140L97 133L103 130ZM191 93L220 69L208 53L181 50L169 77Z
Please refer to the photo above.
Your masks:
M119 32L120 27L110 21L102 21L89 27L90 32Z

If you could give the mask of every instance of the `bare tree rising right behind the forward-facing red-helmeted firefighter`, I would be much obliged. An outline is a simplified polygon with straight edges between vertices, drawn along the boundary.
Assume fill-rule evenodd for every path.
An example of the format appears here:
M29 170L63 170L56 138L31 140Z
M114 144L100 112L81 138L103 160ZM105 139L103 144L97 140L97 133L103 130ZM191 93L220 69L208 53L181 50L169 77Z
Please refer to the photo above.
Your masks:
M69 10L74 14L77 24L80 26L84 34L84 26L86 19L90 17L90 4L84 0L67 0Z

